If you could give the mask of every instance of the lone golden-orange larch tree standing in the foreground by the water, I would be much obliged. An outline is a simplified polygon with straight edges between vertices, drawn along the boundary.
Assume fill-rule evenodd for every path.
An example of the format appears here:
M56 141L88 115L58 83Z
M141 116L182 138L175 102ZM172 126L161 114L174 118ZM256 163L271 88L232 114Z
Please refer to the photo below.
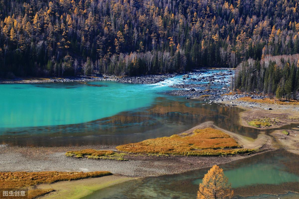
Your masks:
M230 199L234 194L223 169L214 165L199 184L196 199Z

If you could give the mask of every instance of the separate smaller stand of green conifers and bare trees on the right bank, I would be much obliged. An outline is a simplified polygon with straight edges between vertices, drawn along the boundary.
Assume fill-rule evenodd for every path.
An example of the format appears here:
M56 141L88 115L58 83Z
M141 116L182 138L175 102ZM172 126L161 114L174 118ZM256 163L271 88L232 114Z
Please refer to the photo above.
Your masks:
M242 61L236 68L234 89L275 95L279 100L299 99L299 54Z

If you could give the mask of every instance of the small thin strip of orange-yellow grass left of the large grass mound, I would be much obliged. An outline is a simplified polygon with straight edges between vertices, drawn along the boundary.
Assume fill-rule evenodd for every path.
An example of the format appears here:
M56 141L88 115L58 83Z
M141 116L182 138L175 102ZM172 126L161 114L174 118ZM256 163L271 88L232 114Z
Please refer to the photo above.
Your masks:
M89 159L103 159L103 160L124 160L126 153L118 153L111 150L95 150L84 149L81 151L68 151L65 153L67 157L89 158Z

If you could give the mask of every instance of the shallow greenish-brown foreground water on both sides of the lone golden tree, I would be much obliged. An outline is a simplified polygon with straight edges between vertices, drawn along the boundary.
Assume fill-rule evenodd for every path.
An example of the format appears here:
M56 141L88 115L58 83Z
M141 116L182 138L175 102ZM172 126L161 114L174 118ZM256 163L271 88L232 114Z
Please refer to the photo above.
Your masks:
M248 196L263 193L281 194L286 193L285 190L299 192L298 165L298 155L279 150L219 166L224 169L224 174L236 195ZM208 169L133 180L101 189L84 199L196 198L199 183ZM289 196L299 198L299 195ZM282 198L286 198L286 195Z

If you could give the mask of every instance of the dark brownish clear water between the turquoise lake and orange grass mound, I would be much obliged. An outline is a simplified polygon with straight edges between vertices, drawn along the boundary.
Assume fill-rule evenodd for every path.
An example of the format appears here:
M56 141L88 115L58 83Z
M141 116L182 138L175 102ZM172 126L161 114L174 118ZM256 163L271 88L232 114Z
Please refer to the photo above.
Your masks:
M237 107L210 105L204 101L164 95L155 98L150 107L121 112L91 122L6 129L2 132L1 142L20 146L118 145L170 136L206 121L213 121L220 128L250 138L257 138L262 131L273 131L241 126L241 111Z

